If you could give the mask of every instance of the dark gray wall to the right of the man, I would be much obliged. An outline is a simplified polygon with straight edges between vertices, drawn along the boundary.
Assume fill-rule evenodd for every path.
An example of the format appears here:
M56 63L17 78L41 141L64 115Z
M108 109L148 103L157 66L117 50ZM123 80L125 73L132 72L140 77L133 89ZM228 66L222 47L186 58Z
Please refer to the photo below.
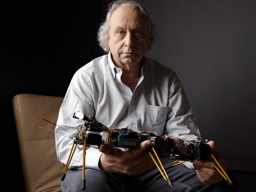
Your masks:
M146 56L176 71L203 139L256 189L256 1L138 1L158 33Z

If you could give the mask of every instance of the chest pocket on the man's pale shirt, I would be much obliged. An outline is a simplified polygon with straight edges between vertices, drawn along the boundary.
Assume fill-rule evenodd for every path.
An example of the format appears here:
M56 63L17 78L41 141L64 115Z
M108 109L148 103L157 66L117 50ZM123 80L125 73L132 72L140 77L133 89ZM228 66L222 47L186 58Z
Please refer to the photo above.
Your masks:
M147 105L146 131L163 134L168 107Z

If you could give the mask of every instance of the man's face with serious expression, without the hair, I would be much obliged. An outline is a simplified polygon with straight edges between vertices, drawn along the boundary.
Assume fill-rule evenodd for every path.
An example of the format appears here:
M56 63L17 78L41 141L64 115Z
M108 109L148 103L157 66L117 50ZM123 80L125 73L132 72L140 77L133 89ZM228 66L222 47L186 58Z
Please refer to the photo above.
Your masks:
M108 46L115 65L139 65L150 47L146 16L133 7L117 8L110 19Z

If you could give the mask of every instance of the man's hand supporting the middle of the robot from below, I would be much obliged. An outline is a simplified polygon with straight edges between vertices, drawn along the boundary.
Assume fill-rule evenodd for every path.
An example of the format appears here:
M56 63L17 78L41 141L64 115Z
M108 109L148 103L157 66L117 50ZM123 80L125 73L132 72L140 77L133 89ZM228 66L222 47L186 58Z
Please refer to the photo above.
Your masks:
M99 160L99 168L108 173L120 173L125 175L136 175L155 166L150 155L144 150L151 145L151 141L143 141L139 148L122 151L117 147L106 145L100 146L103 152ZM164 158L159 158L163 163Z

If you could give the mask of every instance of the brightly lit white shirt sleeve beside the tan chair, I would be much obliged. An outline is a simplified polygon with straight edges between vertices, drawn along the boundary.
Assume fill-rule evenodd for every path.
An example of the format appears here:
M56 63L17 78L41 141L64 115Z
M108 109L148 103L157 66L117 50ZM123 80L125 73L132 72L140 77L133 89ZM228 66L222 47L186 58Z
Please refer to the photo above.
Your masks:
M55 128L57 159L63 166L67 163L73 145L72 138L77 135L77 126L84 122L73 118L73 114L80 111L86 115L94 116L92 94L92 84L86 74L75 73L59 110L57 120L59 126ZM82 169L82 154L83 150L76 148L69 169ZM98 161L101 154L97 148L86 150L86 168L100 170Z

